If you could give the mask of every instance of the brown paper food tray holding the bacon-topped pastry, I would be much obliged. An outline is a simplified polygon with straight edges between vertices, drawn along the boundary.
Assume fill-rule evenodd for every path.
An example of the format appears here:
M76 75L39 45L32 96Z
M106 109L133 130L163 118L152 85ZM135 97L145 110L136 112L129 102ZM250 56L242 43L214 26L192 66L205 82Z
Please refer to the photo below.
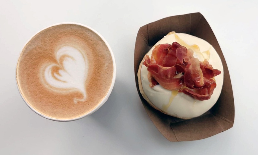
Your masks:
M144 55L167 33L187 33L208 41L219 54L224 68L224 82L216 104L200 117L183 120L163 114L152 108L142 97L137 72ZM134 51L136 87L142 104L150 119L169 141L192 141L207 138L233 126L235 109L230 75L219 43L210 25L200 13L191 13L163 18L142 26L137 34Z

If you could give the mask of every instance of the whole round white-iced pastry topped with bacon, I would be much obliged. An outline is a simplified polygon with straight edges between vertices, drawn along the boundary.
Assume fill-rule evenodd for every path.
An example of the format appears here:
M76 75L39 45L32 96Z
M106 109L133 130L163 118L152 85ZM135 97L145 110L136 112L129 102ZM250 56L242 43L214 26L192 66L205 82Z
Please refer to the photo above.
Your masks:
M172 54L162 55L170 50ZM142 60L139 89L155 109L178 118L198 117L217 101L223 66L208 42L184 33L168 33Z

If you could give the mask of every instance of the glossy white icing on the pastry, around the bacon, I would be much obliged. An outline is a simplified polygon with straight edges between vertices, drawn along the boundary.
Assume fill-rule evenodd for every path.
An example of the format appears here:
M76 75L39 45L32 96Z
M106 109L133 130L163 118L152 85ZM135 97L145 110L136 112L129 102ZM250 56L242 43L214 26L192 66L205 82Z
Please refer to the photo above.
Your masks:
M173 98L173 101L171 102L170 106L164 109L163 107L169 104L169 100L171 98L171 91L163 88L160 85L156 85L153 88L150 88L148 77L147 77L148 75L147 67L144 65L142 65L142 68L141 68L142 87L148 99L157 108L161 109L165 113L170 114L172 116L176 116L179 118L186 118L186 119L192 118L192 117L198 117L203 113L205 113L206 111L208 111L219 98L219 95L222 90L223 75L224 75L222 62L221 62L221 59L219 58L219 55L215 51L215 49L207 41L185 33L176 33L176 35L178 35L179 38L181 38L185 43L189 45L194 45L194 44L198 45L201 52L209 50L210 58L208 62L213 66L214 69L218 69L221 71L221 74L215 77L217 86L214 89L211 99L208 99L205 101L199 101L184 93L178 93ZM151 56L152 50L158 44L161 44L161 43L172 44L174 41L176 41L174 34L166 35L164 38L158 41L146 55ZM194 53L194 56L197 57L200 61L203 61L203 58L198 56L198 54Z

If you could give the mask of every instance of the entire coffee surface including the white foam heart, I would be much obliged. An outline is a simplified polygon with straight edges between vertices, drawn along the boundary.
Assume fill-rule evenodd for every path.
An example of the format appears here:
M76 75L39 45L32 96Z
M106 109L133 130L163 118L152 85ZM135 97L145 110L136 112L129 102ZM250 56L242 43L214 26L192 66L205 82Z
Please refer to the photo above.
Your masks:
M25 45L16 80L27 104L63 120L98 106L113 72L111 53L98 34L82 25L61 24L40 31Z

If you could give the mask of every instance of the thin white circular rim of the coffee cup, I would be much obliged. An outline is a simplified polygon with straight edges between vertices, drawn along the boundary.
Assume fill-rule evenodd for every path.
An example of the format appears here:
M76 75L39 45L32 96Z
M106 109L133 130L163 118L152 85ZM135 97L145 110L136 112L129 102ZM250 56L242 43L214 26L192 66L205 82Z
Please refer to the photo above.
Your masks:
M23 50L20 52L20 55L18 57L18 60L17 60L17 64L16 64L16 68L15 68L15 80L16 80L16 86L18 88L18 91L20 93L20 96L22 97L23 101L27 104L27 106L33 110L36 114L46 118L46 119L49 119L49 120L53 120L53 121L59 121L59 122L68 122L68 121L74 121L74 120L79 120L83 117L86 117L92 113L94 113L95 111L97 111L101 106L103 106L103 104L107 101L107 99L109 98L113 88L114 88L114 83L115 83L115 79L116 79L116 63L115 63L115 58L114 58L114 54L113 54L113 51L111 49L111 47L109 46L108 42L106 41L106 39L100 34L98 33L96 30L94 30L93 28L91 28L90 26L87 26L87 25L84 25L84 24L81 24L81 23L78 23L78 22L60 22L60 23L56 23L56 24L52 24L50 26L47 26L41 30L39 30L37 33L35 33L26 43L25 45L23 46L23 48L28 44L29 41L31 41L31 39L37 35L38 33L40 33L41 31L47 29L47 28L50 28L50 27L53 27L53 26L57 26L57 25L64 25L64 24L74 24L74 25L80 25L80 26L83 26L85 28L88 28L90 30L92 30L95 34L97 34L103 41L104 43L106 44L106 46L108 47L109 49L109 52L111 54L111 57L112 57L112 62L113 62L113 77L112 77L112 82L111 82L111 85L109 87L109 90L106 94L106 96L104 96L104 98L101 100L101 102L95 107L93 108L90 112L87 112L86 114L83 114L79 117L75 117L75 118L71 118L71 119L58 119L58 118L54 118L54 117L50 117L50 116L47 116L47 115L44 115L42 114L41 112L37 111L34 107L32 107L30 104L28 104L28 102L24 99L21 91L20 91L20 88L19 88L19 85L18 85L18 82L17 82L17 65L18 65L18 62L20 60L20 56L21 54L23 53Z

